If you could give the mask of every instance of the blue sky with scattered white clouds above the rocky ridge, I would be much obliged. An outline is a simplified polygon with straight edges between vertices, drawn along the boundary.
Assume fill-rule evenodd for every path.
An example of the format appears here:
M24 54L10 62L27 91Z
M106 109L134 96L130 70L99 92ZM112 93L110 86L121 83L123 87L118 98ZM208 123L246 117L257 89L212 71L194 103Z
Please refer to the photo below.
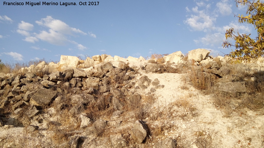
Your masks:
M223 55L231 51L221 47L226 29L256 32L238 23L234 14L245 14L247 7L237 8L233 0L98 0L97 6L80 6L74 0L53 0L58 6L19 2L24 5L0 2L2 62L59 61L60 55L147 57L197 48ZM60 2L77 6L60 6Z

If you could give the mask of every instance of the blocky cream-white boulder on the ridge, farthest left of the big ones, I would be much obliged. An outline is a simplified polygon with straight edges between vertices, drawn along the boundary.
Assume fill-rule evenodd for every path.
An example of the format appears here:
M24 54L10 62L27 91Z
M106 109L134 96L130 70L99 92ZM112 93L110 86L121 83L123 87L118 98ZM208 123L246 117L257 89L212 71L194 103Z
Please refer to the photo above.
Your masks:
M67 68L77 67L79 63L79 58L75 56L60 56L60 65L63 65Z

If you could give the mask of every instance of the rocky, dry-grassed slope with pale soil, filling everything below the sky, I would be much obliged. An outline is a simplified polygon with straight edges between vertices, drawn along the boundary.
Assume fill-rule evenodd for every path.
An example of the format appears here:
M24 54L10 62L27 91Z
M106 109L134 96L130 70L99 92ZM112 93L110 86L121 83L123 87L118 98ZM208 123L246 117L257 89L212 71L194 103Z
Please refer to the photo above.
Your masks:
M62 56L0 77L0 147L264 147L263 59Z

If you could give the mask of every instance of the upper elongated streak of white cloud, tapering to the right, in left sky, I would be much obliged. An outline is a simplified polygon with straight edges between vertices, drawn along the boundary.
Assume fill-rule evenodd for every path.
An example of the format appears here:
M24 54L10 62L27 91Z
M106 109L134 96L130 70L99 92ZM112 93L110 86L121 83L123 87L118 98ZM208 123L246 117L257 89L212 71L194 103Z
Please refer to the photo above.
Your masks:
M66 23L63 21L60 21L59 19L54 19L51 16L47 16L46 18L41 18L40 21L36 21L37 24L40 26L45 26L53 31L62 33L62 34L72 34L72 33L81 33L86 35L87 33L84 33L83 31L69 27Z

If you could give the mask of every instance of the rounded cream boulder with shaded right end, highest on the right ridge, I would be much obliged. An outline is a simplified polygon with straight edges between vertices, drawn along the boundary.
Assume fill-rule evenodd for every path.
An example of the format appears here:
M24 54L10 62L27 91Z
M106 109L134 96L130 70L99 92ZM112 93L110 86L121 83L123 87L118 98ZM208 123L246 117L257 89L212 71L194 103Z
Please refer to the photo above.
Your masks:
M196 62L200 62L202 60L204 60L204 58L206 56L208 56L210 53L210 51L206 50L206 49L195 49L195 50L191 50L188 53L188 60L190 59L194 59Z

